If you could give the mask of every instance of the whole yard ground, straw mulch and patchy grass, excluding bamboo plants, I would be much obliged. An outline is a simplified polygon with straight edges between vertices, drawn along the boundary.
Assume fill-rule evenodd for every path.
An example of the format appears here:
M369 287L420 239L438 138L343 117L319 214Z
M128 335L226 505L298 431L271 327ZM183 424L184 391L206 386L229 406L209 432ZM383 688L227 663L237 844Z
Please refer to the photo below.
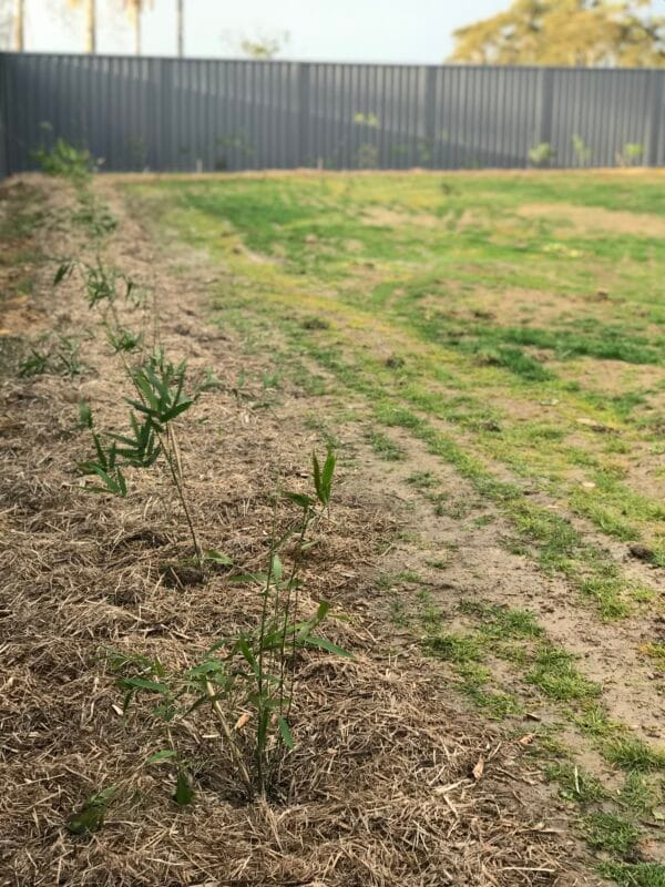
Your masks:
M0 816L18 883L665 885L664 184L631 170L6 188L4 775L27 788ZM53 288L65 258L86 271ZM102 269L133 295L100 323ZM202 546L224 554L194 579L164 469L130 467L121 499L86 495L76 470L78 405L93 430L120 427L132 376L109 345L139 325L196 383L175 465ZM325 599L331 619L285 666L295 748L247 804L205 706L173 716L153 759L166 740L144 696L185 665L211 673L204 652L250 631L287 520L274 492L301 504L327 448L331 502L283 559L297 605ZM119 674L140 682L130 717ZM248 736L244 711L231 723ZM170 799L174 759L191 804ZM111 785L103 828L72 840L68 815Z

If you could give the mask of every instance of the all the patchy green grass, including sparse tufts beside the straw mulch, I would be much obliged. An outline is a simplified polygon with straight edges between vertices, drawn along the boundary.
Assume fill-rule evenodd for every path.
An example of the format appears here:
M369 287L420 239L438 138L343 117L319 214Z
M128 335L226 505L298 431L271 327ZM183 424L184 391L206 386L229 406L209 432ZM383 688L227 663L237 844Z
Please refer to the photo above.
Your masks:
M345 421L362 424L377 457L407 463L407 489L447 531L457 524L451 551L473 528L508 526L492 543L563 584L557 606L611 622L662 608L665 245L656 223L665 202L654 182L339 175L132 187L187 243L223 259L215 304L226 323L253 330L257 347L273 347L277 330L287 363L320 367L328 391L366 405ZM533 213L557 203L595 207L598 225ZM631 212L645 214L634 231ZM437 470L423 470L409 439L471 493L452 495ZM483 503L491 513L479 514ZM399 539L418 544L412 529ZM450 560L426 565L443 577ZM607 876L662 885L662 869L635 863L635 853L636 817L653 807L649 781L665 758L612 720L583 657L553 643L526 603L463 599L450 624L418 573L376 584L390 595L393 624L413 632L488 717L519 718L535 702L605 768L624 772L613 794L560 755L548 778L580 805L587 843L612 860ZM654 664L657 644L642 651Z

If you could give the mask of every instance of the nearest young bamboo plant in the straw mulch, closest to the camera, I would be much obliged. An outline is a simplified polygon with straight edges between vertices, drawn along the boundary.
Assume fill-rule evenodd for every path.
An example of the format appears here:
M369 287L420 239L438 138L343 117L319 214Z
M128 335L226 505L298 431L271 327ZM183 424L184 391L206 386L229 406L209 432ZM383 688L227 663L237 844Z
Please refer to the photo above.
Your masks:
M277 789L285 755L295 747L290 713L297 694L298 651L349 655L317 633L329 603L321 601L311 616L301 619L299 602L301 563L317 541L309 538L311 530L328 514L335 465L332 450L323 466L313 456L315 495L282 493L282 499L297 507L297 518L284 530L274 530L265 573L237 577L259 591L260 616L253 629L216 641L195 665L175 672L156 659L109 655L109 666L124 692L125 713L140 694L155 701L151 714L162 726L165 747L146 763L168 762L174 767L173 798L181 805L194 797L193 762L180 743L185 718L205 712L212 730L219 733L243 794L248 799L256 794L269 796ZM289 565L280 554L287 547Z

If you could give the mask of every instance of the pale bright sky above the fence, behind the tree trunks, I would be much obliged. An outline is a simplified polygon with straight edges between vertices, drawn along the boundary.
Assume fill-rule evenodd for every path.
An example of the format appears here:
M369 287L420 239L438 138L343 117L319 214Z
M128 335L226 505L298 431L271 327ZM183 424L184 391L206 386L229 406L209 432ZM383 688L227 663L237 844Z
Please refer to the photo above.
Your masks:
M10 6L16 0L0 0ZM84 47L82 3L24 0L25 49L78 52ZM133 52L123 0L96 0L98 51ZM185 52L238 57L243 38L287 32L280 58L319 61L441 63L456 28L487 18L510 0L185 0ZM152 0L142 20L143 53L175 54L175 0Z

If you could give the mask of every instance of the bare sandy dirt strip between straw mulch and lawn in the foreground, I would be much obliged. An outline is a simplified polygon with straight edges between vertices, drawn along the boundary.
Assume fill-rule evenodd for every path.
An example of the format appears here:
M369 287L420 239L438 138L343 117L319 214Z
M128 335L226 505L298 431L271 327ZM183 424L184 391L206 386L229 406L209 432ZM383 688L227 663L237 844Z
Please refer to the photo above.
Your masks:
M407 434L391 432L409 458L396 463L389 471L364 463L388 497L398 502L409 502L408 526L417 528L417 542L397 542L386 559L383 569L389 572L412 571L423 577L434 598L452 620L462 600L497 603L533 611L548 636L573 653L583 673L603 686L603 704L612 718L630 724L647 742L665 741L663 702L653 669L641 654L641 645L649 636L649 626L642 621L603 623L591 612L571 600L567 583L548 577L523 555L512 554L502 540L511 538L511 527L497 510L479 499L469 483L450 467L428 455ZM407 481L417 469L429 471L446 492L449 508L454 503L467 509L463 519L437 516L433 506L419 500ZM487 518L484 526L474 526L474 518ZM585 528L586 529L586 528ZM617 550L623 551L622 546ZM428 560L438 560L444 553L444 569L432 570ZM655 631L651 626L652 632ZM548 720L548 704L535 702ZM577 748L584 748L577 737ZM606 768L605 768L606 769Z

